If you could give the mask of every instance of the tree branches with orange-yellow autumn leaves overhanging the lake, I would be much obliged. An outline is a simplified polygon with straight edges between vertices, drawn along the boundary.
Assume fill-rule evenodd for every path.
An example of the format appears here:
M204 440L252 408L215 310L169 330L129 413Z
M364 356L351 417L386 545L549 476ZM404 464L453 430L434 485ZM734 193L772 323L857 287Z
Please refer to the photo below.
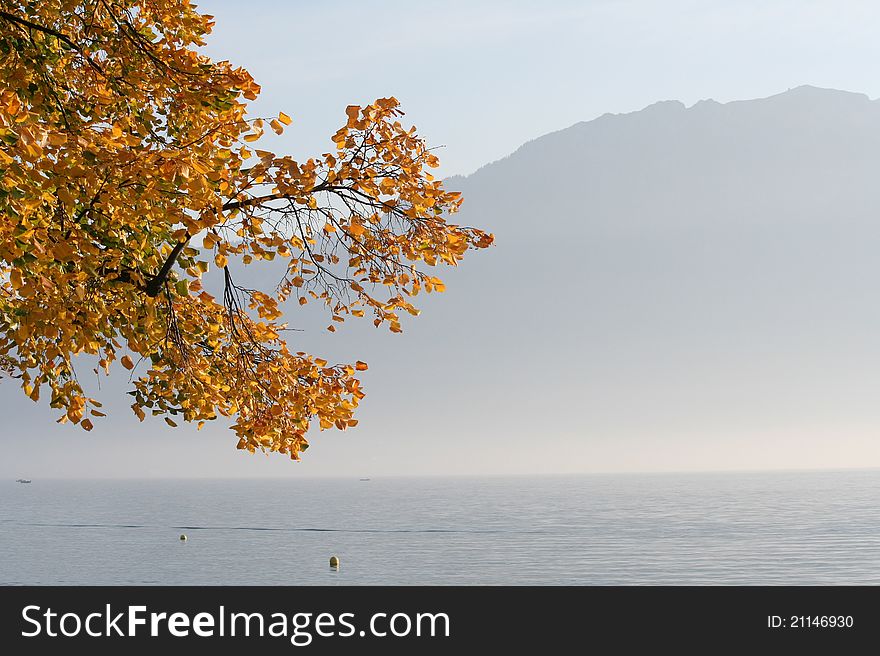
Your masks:
M349 106L320 157L257 149L291 119L249 118L250 74L197 51L211 27L188 0L0 7L0 367L91 430L101 403L74 365L118 363L141 420L228 417L238 448L299 459L312 424L357 423L367 367L291 350L280 305L399 332L414 296L443 291L423 265L492 235L447 222L461 198L394 98ZM286 273L247 289L233 258ZM222 298L202 287L212 265Z

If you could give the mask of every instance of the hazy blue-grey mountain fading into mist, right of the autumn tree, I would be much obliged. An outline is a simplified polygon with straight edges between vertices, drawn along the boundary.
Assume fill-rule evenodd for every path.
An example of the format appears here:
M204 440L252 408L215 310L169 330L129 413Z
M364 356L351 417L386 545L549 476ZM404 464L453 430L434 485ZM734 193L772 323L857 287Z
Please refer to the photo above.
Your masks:
M447 181L497 243L399 357L457 390L447 429L538 450L876 425L878 172L880 103L814 87L535 139Z

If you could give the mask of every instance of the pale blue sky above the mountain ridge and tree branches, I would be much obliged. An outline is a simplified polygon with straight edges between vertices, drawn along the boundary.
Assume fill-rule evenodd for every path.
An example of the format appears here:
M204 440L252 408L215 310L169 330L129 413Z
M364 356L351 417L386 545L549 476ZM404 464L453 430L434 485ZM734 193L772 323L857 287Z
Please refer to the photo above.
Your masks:
M447 174L525 141L657 100L690 105L812 84L880 96L880 4L866 0L297 2L205 0L209 51L294 117L283 139L320 153L343 110L386 95Z

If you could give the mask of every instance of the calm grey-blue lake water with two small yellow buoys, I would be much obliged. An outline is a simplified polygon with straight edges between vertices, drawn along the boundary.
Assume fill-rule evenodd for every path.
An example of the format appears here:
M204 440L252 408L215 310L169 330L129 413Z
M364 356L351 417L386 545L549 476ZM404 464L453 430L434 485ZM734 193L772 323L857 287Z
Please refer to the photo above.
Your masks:
M876 585L878 505L880 471L3 481L0 584Z

